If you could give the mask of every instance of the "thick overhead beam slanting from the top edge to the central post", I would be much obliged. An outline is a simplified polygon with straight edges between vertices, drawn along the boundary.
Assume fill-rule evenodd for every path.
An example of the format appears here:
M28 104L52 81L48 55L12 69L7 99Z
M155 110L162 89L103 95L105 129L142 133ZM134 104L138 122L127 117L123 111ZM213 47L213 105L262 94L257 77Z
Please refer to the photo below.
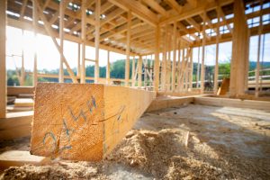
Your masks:
M131 11L144 22L156 27L158 23L157 15L151 12L146 6L140 4L138 1L130 0L109 0L110 3L119 6L125 11Z

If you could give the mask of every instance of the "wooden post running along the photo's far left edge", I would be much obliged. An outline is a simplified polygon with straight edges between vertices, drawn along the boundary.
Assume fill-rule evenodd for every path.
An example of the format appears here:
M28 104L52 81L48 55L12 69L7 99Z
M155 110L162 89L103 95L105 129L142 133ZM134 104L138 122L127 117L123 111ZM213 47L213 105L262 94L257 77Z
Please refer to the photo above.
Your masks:
M2 0L0 1L0 118L5 118L6 111L5 11L6 0Z

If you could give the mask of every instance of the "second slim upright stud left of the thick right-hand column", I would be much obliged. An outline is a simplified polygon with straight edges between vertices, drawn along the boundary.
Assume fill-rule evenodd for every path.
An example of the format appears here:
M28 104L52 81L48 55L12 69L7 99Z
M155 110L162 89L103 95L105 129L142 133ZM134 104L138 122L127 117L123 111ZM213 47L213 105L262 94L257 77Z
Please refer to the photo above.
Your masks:
M204 53L205 53L205 41L206 41L206 32L205 32L205 26L206 26L206 12L203 12L203 25L202 25L202 67L201 67L201 94L204 92Z

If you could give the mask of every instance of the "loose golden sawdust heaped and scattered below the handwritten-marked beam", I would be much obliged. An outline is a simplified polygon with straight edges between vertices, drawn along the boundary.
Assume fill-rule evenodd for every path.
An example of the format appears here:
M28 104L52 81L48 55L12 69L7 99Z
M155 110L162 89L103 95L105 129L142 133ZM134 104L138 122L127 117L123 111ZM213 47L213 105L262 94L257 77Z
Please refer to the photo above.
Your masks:
M103 162L57 161L47 166L10 167L2 179L110 179L105 169L116 164L130 166L157 179L267 179L270 176L268 164L255 166L259 159L230 157L224 147L220 147L219 154L193 135L186 148L185 136L186 131L179 129L130 130Z

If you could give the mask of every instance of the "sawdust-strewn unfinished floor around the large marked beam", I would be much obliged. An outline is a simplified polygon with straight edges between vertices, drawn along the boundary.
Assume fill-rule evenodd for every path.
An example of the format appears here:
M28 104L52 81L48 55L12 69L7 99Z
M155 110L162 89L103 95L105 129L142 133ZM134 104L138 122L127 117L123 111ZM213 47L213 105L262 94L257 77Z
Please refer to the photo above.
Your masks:
M21 141L5 144L27 148L29 140ZM270 112L197 104L147 112L101 163L54 159L46 166L10 167L2 175L16 177L269 179Z

